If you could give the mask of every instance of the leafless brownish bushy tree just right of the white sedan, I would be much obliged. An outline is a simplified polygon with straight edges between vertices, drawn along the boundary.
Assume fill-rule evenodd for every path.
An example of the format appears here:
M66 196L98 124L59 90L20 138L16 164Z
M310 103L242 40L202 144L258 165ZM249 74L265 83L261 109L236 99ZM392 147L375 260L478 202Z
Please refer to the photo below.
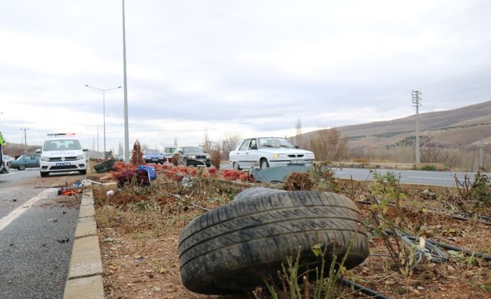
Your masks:
M316 160L339 161L348 154L348 138L341 137L337 128L319 130L310 139L310 150L316 155Z

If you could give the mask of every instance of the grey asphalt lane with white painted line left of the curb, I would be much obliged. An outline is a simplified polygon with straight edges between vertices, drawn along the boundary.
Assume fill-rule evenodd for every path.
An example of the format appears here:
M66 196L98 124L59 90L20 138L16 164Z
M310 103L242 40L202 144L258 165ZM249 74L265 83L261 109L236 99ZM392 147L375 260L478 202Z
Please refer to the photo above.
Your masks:
M0 298L63 298L80 200L57 191L82 179L0 175Z

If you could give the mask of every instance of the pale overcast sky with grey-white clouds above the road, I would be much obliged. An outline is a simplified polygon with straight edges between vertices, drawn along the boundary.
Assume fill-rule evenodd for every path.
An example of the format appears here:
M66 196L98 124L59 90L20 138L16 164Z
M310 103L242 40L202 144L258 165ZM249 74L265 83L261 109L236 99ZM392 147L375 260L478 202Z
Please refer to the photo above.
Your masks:
M491 2L127 0L130 144L295 134L491 99ZM123 85L118 0L0 0L0 131L92 148ZM124 142L106 92L107 148ZM96 145L97 147L97 141Z

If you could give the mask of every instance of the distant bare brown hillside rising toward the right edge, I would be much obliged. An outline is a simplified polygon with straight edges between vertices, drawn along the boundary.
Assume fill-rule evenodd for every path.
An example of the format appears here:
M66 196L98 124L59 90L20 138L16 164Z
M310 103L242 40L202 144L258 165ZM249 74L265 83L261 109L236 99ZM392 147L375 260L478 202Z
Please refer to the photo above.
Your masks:
M413 146L416 139L416 115L392 121L341 126L337 130L341 136L349 138L349 147L352 149ZM302 134L303 143L308 143L319 131L323 130ZM491 143L491 101L455 110L421 113L419 135L421 146L431 144L442 148L476 148L480 140Z

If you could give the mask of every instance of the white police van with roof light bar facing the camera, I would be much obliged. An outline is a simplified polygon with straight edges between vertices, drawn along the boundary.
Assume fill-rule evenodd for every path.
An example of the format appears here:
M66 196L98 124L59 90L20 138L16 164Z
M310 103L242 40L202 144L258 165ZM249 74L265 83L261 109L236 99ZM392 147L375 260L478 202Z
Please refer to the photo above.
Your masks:
M84 151L88 150L81 147L74 133L48 134L42 149L37 150L41 153L39 161L41 176L63 171L79 171L81 174L86 174L88 160Z

